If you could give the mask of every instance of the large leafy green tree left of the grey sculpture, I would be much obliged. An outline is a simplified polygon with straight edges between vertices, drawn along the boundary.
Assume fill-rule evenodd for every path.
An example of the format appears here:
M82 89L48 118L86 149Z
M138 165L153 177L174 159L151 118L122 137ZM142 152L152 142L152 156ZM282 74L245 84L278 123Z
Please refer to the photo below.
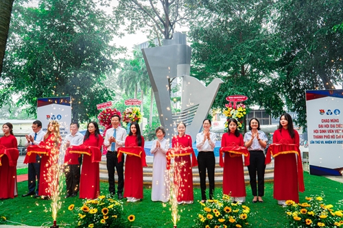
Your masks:
M0 105L12 92L36 113L38 97L72 97L74 119L89 120L114 95L104 83L117 68L110 45L117 26L95 1L46 0L15 5Z

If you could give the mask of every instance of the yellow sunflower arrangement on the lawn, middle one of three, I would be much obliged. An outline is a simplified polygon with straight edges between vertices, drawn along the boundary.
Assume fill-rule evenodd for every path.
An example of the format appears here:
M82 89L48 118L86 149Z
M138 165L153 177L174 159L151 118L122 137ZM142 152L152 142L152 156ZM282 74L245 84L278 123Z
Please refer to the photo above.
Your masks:
M202 210L194 220L193 228L250 227L249 207L233 203L232 198L226 194L217 198L201 203Z

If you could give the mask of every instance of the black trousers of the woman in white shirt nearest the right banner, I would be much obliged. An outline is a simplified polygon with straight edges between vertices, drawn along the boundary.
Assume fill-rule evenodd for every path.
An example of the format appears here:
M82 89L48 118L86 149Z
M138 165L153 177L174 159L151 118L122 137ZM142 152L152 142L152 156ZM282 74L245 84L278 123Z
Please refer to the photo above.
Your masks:
M265 171L265 156L263 151L249 151L250 166L248 166L250 176L250 186L254 197L263 197L264 195L264 171ZM259 194L257 194L256 173L259 184Z

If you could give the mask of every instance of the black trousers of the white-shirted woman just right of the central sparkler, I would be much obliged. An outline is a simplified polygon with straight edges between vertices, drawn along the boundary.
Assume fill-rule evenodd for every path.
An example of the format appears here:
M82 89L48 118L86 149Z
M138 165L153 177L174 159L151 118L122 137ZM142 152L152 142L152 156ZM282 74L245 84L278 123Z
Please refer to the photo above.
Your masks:
M206 200L206 168L209 176L209 198L213 198L214 193L214 173L215 173L215 156L213 151L199 151L198 153L198 169L200 176L201 199Z

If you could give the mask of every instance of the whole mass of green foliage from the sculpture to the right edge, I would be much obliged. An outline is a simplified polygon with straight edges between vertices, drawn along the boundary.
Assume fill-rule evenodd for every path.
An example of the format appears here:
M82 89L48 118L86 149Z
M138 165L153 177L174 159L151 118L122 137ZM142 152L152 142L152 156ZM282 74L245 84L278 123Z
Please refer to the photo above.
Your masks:
M305 126L305 90L342 83L342 1L201 3L189 32L192 74L223 79L215 107L244 94L273 116L297 112Z

